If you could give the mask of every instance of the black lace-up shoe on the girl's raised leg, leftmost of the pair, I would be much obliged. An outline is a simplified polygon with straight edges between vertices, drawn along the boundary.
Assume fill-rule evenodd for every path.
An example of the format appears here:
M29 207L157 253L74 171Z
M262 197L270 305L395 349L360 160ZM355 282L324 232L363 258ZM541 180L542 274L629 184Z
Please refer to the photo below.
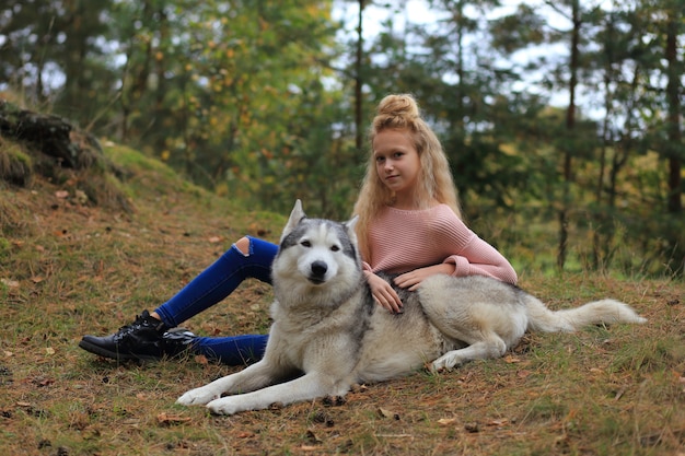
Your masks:
M136 317L136 321L123 326L113 335L105 337L83 336L79 347L101 356L117 361L154 361L165 354L164 332L169 327L151 317L148 311Z

